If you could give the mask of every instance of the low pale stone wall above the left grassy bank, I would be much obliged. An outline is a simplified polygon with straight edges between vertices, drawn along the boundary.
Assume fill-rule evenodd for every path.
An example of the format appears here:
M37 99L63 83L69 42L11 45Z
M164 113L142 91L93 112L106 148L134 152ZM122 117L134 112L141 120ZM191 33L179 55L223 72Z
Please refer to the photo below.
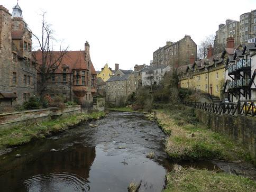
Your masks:
M34 109L20 112L0 113L0 129L16 125L30 125L51 118L65 117L81 113L81 106L67 106L62 111L57 107Z

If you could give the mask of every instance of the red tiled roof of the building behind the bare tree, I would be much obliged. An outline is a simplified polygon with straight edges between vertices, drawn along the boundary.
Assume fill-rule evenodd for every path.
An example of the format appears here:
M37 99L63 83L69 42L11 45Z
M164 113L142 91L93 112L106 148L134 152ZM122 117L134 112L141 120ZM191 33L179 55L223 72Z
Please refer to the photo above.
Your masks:
M60 57L60 51L52 51L53 58L56 60ZM36 51L33 53L36 57L36 62L42 64L42 52ZM53 60L54 60L53 59ZM62 68L68 68L67 72L72 72L73 69L84 69L88 70L87 63L85 61L85 51L68 51L65 56L63 56L60 66L58 67L56 73L62 72ZM59 64L58 62L58 64ZM91 74L97 74L93 63L90 61Z

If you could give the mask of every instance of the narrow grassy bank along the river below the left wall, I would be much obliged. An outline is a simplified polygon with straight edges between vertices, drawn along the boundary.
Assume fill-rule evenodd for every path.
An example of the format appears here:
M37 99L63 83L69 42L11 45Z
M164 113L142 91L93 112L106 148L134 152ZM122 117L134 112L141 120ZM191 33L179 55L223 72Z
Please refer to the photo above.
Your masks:
M51 133L68 130L69 127L104 117L104 112L90 114L77 114L59 120L39 122L29 126L15 126L8 129L0 129L0 149L28 143L34 139L42 139Z

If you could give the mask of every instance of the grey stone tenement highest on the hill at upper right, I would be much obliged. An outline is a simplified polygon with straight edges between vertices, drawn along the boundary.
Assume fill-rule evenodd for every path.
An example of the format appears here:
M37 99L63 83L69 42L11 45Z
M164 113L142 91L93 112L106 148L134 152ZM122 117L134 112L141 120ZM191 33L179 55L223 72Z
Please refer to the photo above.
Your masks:
M226 38L235 38L234 46L248 43L256 37L256 10L240 15L240 20L226 20L225 24L220 24L215 33L214 53L222 52L226 45Z

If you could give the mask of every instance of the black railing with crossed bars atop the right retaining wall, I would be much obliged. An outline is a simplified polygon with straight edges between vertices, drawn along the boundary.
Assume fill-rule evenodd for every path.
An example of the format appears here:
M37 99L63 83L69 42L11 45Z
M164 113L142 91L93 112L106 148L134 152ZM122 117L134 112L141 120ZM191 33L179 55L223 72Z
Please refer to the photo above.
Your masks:
M236 116L237 114L256 117L256 100L239 100L237 103L201 103L193 101L185 101L185 105L200 109L203 111L227 114Z

